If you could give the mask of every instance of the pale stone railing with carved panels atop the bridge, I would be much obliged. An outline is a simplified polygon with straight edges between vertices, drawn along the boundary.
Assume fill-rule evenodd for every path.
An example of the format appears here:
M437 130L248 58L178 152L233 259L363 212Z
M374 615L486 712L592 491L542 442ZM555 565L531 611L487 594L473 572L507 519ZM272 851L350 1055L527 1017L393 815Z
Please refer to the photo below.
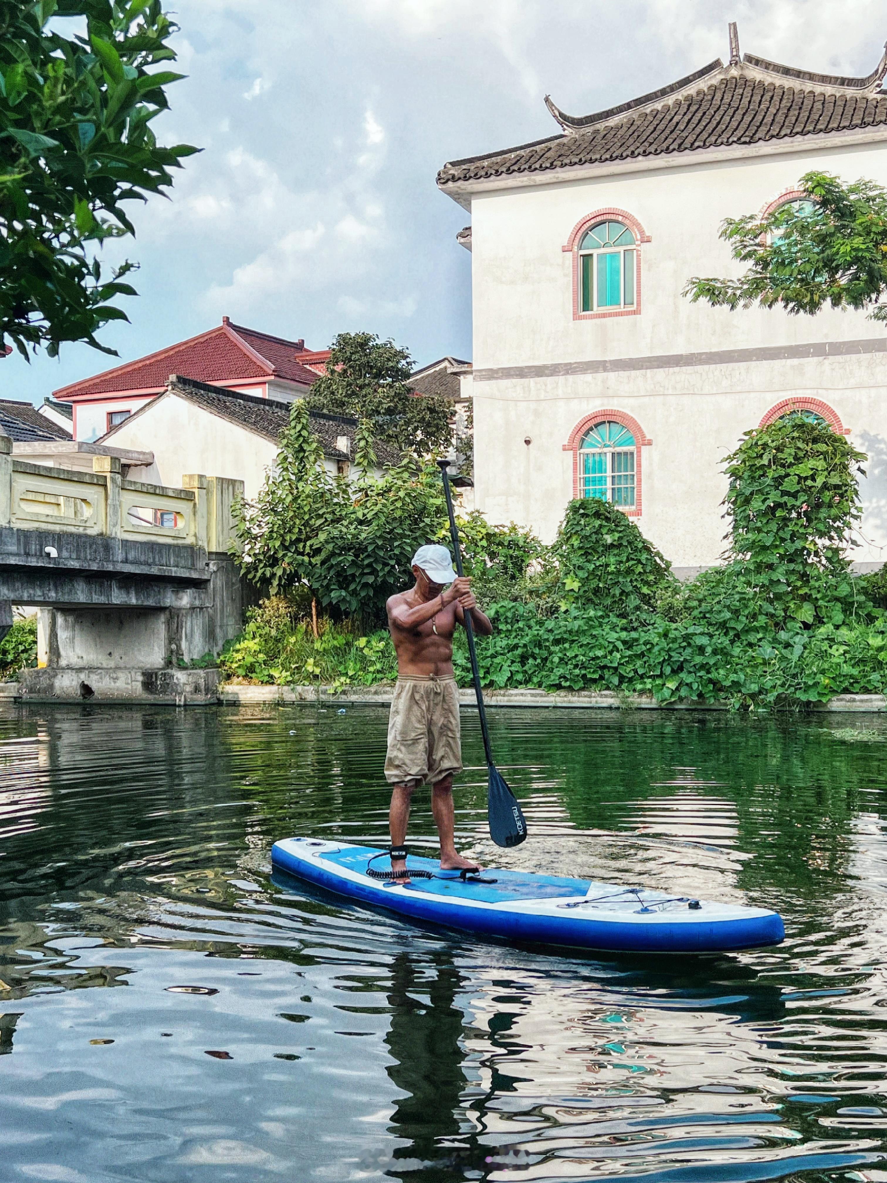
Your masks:
M14 460L12 441L0 437L0 526L228 550L241 481L195 473L182 478L183 489L145 485L123 479L110 455L93 457L92 468Z

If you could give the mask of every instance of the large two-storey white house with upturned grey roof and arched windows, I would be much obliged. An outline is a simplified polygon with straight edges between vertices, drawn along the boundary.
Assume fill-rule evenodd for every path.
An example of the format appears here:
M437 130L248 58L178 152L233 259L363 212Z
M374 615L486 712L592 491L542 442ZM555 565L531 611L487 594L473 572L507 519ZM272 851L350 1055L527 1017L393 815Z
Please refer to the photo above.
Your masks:
M887 558L887 334L865 312L730 312L681 295L738 274L721 220L797 200L811 169L887 186L887 56L867 78L740 57L557 135L446 164L472 214L477 505L553 537L620 504L686 574L724 549L721 460L814 413L869 457L854 557Z

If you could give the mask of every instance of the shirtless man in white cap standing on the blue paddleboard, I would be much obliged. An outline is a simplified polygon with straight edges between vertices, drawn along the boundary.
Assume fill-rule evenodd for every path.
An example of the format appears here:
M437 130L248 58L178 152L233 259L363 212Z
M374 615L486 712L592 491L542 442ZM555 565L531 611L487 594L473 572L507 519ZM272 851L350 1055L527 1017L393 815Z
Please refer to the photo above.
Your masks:
M479 636L490 636L493 626L478 608L471 580L459 578L453 570L446 547L420 547L413 556L413 575L415 586L387 603L397 653L386 758L386 780L393 786L391 849L403 847L413 790L417 784L430 784L441 870L475 870L457 854L453 838L453 775L462 770L453 633L457 623L465 623L466 608L472 610ZM406 854L391 855L391 870L404 878Z

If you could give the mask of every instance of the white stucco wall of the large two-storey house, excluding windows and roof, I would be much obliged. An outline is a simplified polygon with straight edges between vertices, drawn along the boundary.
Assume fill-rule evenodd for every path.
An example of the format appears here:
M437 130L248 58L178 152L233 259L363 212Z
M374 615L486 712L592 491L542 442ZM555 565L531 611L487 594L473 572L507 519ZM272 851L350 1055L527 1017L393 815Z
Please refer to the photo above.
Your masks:
M887 558L887 354L655 363L699 351L875 341L865 313L729 312L680 293L693 274L738 272L718 238L721 220L759 211L812 168L887 185L887 147L804 150L685 163L623 176L477 193L472 200L474 468L477 504L492 521L553 537L572 497L563 451L585 415L633 415L641 451L642 512L634 521L675 567L714 563L723 550L723 457L785 397L820 399L870 455L866 518L855 557ZM626 209L650 241L641 251L641 312L572 318L574 226L597 209ZM610 373L575 373L616 362ZM520 367L523 374L485 374ZM535 368L546 367L542 373ZM570 368L574 373L570 373ZM525 438L531 444L524 442Z

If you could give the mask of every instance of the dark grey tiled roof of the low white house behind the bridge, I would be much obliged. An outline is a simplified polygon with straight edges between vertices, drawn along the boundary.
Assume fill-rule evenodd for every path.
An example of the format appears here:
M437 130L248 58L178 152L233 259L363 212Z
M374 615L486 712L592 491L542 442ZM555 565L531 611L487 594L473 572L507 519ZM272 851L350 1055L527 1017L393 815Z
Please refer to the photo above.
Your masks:
M276 399L260 399L252 394L242 394L240 390L226 390L218 386L209 386L206 382L195 382L190 379L175 376L167 382L166 393L175 394L180 399L187 399L195 406L208 411L220 419L226 419L238 427L245 427L257 435L264 437L272 444L277 444L280 432L290 422L290 403L278 402ZM163 397L163 395L161 395ZM141 407L135 415L125 420L129 426L138 415L145 414L154 406L154 401ZM326 415L321 412L310 412L311 431L321 440L324 454L331 460L348 460L347 453L336 447L339 435L348 435L351 440L357 431L357 420L344 415ZM115 432L119 431L124 424L112 427L110 432L102 437L101 442L111 439ZM400 454L388 444L376 440L376 457L381 464L396 464Z

